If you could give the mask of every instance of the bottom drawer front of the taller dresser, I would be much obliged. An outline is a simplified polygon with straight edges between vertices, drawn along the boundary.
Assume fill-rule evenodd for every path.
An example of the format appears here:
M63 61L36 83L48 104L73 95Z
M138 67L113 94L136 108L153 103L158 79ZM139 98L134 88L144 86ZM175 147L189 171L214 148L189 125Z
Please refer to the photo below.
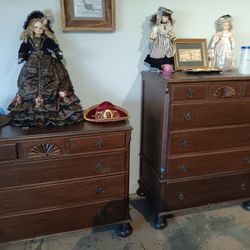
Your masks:
M166 208L182 209L250 197L250 173L166 184Z

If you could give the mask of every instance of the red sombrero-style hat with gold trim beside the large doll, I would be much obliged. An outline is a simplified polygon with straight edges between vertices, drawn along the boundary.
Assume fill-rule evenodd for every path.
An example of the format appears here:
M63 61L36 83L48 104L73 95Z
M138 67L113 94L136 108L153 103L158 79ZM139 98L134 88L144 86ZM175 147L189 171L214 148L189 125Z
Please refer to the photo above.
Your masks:
M91 122L115 122L128 119L126 110L105 101L84 111L84 118Z

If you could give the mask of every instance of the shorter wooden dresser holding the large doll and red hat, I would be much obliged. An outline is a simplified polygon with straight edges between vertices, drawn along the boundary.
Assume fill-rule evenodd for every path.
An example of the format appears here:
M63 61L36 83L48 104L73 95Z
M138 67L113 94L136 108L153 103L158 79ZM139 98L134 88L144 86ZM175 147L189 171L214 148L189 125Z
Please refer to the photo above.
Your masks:
M127 122L0 128L0 242L129 225Z

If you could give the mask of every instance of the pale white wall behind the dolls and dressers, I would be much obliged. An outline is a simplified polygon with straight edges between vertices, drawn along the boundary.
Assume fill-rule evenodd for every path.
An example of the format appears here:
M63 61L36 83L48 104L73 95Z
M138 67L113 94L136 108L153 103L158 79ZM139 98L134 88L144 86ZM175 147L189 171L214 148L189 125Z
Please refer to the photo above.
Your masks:
M148 52L149 16L159 6L174 11L178 38L207 38L214 34L215 20L224 14L234 18L235 57L241 45L250 45L249 0L116 0L114 33L61 30L59 0L0 0L0 107L6 109L16 93L21 68L17 64L19 35L31 11L50 9L53 29L66 58L76 94L87 108L109 100L127 109L134 128L131 142L130 192L139 176L141 70Z

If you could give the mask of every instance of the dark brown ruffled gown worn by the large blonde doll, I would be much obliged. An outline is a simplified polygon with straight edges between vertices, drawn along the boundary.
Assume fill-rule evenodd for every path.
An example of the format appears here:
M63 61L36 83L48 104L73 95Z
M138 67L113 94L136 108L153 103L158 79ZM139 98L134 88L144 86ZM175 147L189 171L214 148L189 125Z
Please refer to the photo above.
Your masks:
M14 126L64 126L83 120L82 108L62 62L45 54L41 38L18 77L18 92L8 110ZM59 95L63 91L64 96Z

